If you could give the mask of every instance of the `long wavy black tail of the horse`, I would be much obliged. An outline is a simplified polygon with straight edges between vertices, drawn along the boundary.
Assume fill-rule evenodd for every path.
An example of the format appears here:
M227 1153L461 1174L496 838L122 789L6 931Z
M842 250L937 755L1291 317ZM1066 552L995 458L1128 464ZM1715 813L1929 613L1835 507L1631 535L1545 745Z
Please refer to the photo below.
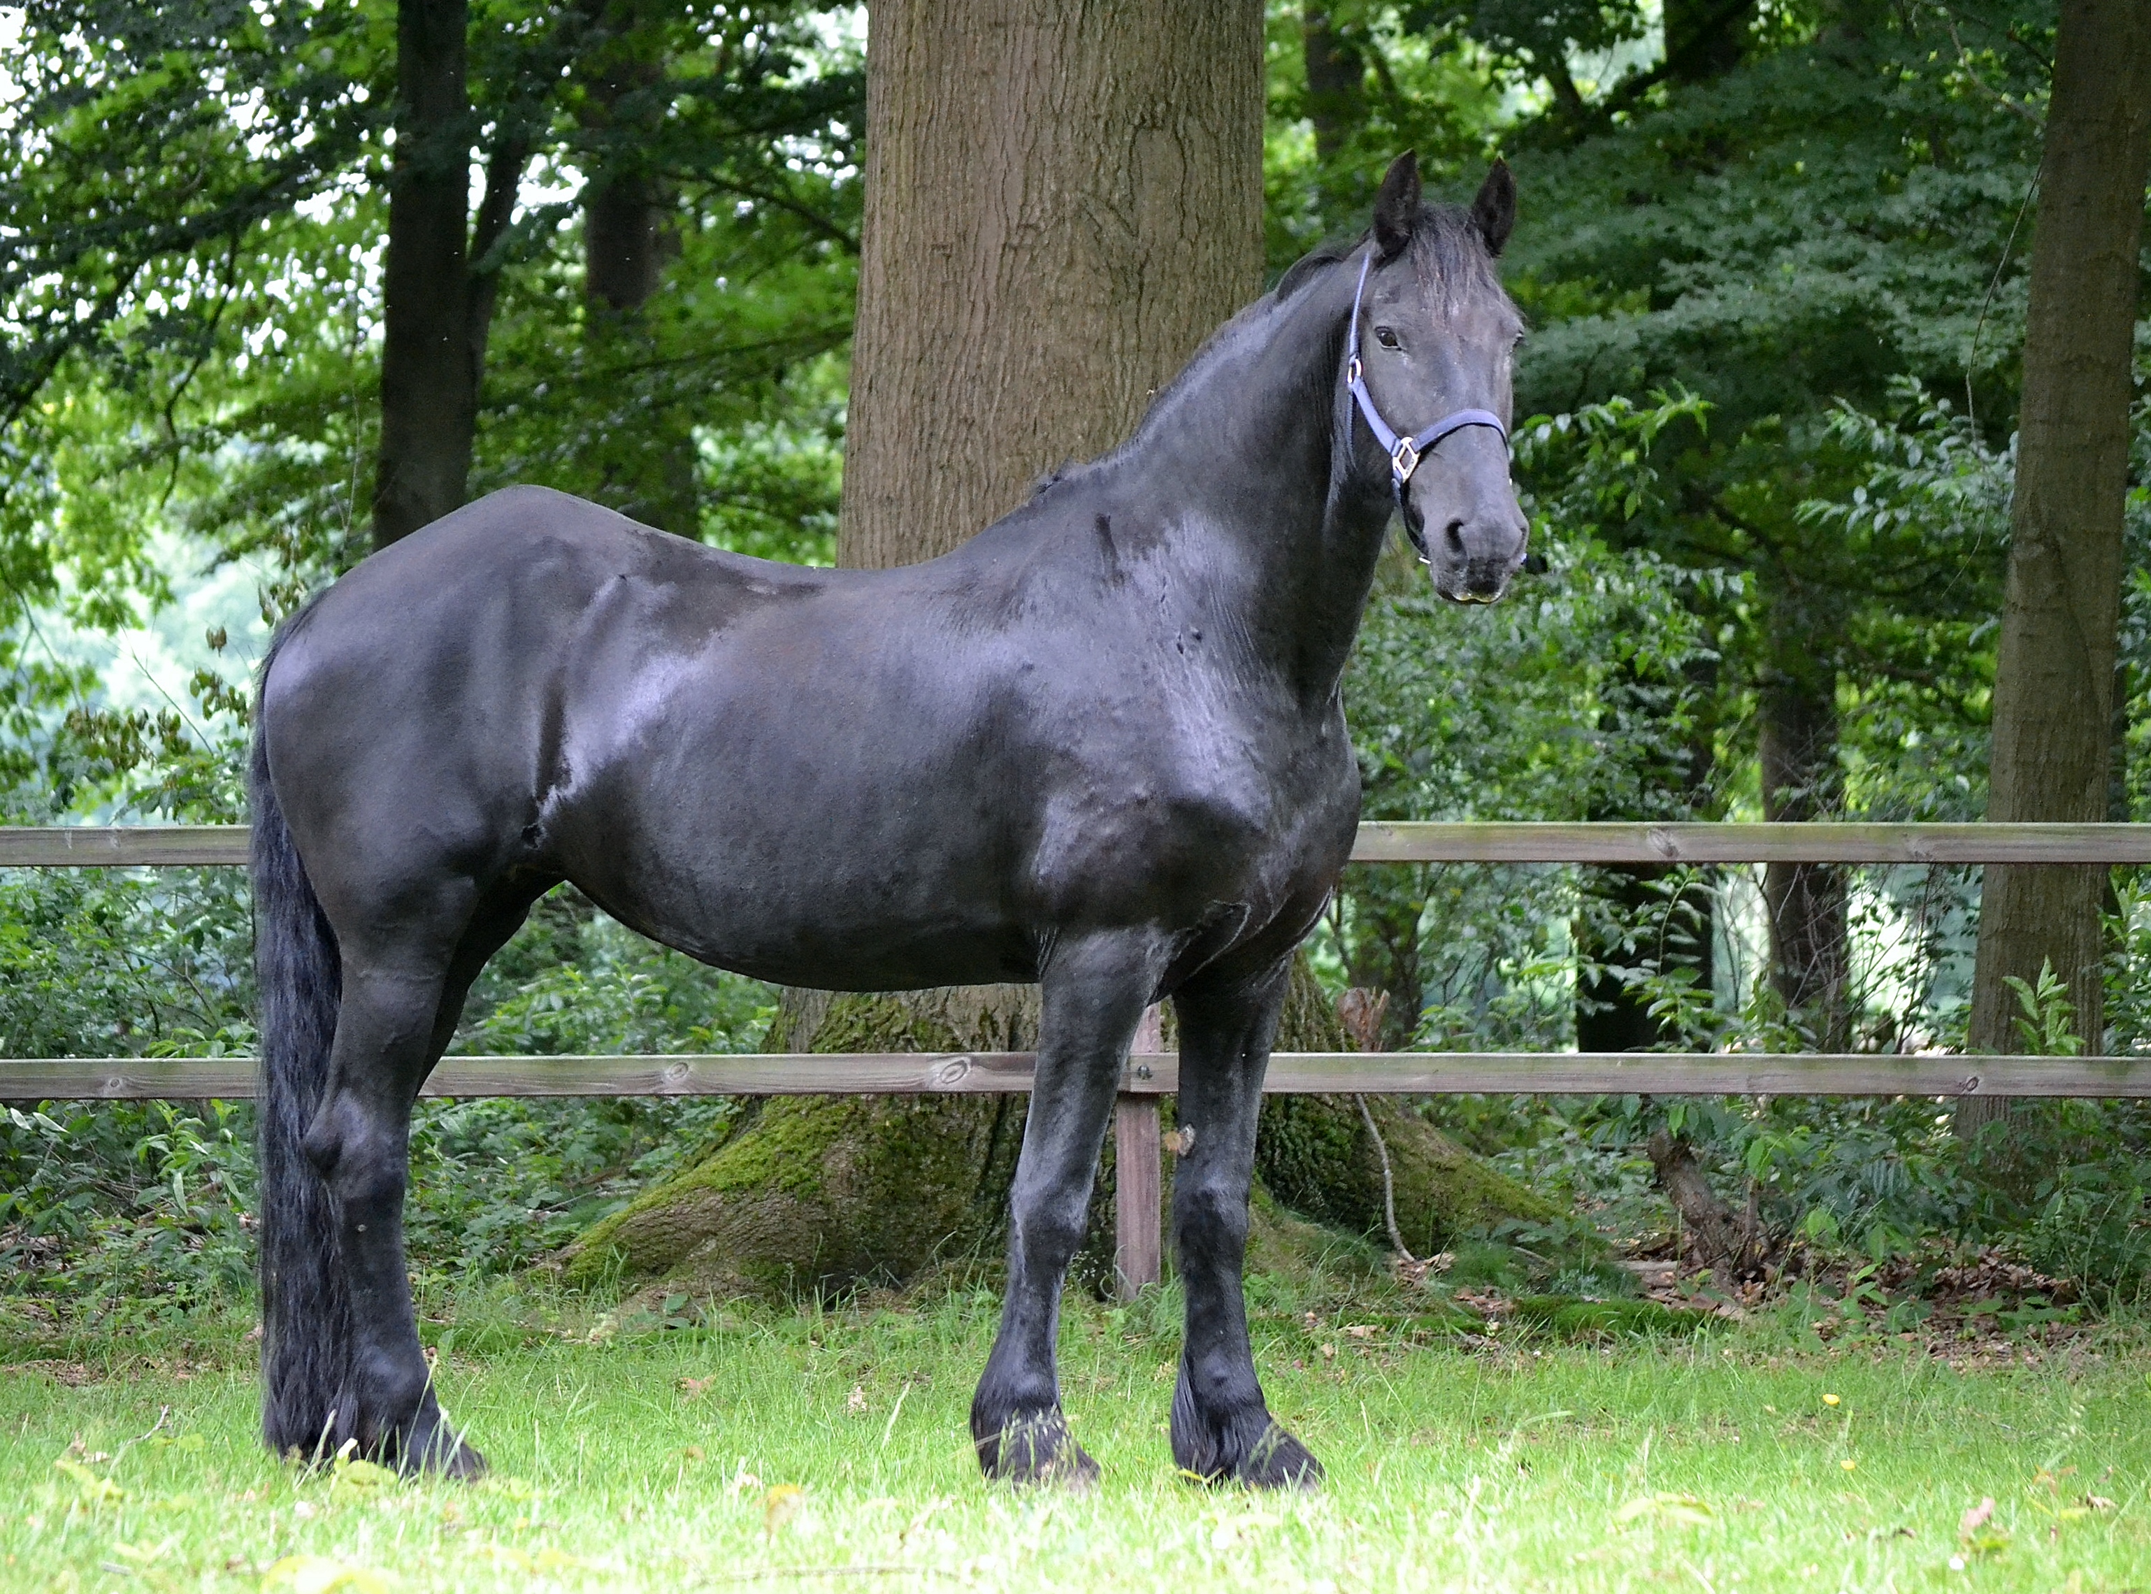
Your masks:
M271 658L273 658L271 650ZM269 665L262 665L267 686ZM260 699L256 699L260 701ZM262 1435L286 1454L314 1454L351 1387L351 1291L338 1256L336 1198L299 1144L329 1078L329 1043L344 979L336 931L305 878L269 783L256 712L254 977L260 985L260 1278Z

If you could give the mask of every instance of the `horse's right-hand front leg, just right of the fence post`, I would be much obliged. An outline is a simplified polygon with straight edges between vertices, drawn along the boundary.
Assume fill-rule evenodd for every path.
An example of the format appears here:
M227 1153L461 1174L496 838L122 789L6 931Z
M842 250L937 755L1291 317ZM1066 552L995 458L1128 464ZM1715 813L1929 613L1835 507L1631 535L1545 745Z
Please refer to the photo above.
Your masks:
M1172 1237L1187 1291L1172 1458L1211 1480L1312 1486L1321 1463L1278 1426L1254 1375L1241 1265L1263 1071L1278 1035L1291 964L1250 981L1198 981L1172 998L1181 1022L1181 1134Z

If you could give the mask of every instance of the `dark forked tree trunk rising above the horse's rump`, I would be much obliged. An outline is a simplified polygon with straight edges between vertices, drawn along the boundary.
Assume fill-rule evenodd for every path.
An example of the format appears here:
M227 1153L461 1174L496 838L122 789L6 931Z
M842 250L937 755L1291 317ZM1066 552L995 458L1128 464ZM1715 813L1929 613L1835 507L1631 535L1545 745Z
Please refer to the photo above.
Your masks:
M473 234L469 194L478 125L465 80L467 28L467 0L400 0L396 6L376 549L462 503L499 275L490 256L508 230L529 159L525 131L495 131Z

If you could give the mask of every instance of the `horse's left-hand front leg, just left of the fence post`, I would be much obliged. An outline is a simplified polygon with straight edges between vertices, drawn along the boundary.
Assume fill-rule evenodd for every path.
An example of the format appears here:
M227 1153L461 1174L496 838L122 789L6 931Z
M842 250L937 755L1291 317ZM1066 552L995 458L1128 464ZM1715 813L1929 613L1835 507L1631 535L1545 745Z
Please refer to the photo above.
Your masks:
M970 1403L970 1437L987 1478L1097 1478L1097 1463L1060 1413L1054 1336L1121 1065L1155 979L1155 942L1125 931L1060 942L1043 970L1037 1082L1009 1198L1009 1289Z

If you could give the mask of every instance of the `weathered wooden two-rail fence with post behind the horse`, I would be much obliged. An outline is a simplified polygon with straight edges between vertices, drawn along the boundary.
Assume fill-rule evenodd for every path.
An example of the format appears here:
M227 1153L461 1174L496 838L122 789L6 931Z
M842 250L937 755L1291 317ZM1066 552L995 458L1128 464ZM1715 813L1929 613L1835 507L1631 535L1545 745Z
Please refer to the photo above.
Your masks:
M0 867L243 865L245 826L0 826ZM2151 824L1390 824L1353 863L2151 863ZM452 1056L426 1095L903 1095L1028 1091L1028 1052ZM1157 1099L1179 1058L1136 1052L1114 1112L1123 1289L1162 1273ZM2151 1058L1768 1052L1280 1052L1271 1093L2151 1097ZM0 1099L254 1095L252 1058L0 1061Z

